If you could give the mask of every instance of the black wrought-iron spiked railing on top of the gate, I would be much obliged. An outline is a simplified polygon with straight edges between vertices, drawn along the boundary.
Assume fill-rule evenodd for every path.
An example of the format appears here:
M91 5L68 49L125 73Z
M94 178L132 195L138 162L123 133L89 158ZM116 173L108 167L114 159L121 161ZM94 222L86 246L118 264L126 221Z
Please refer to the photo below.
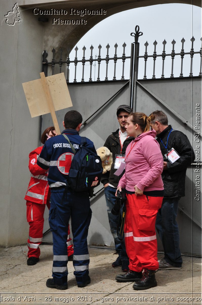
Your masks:
M97 63L98 65L98 69L97 69L97 75L96 75L96 81L109 81L109 80L113 80L113 81L117 81L117 80L125 80L125 79L131 79L131 78L135 78L135 79L138 79L138 65L139 65L139 59L144 59L145 61L145 64L144 64L144 76L143 77L139 77L139 79L143 78L143 79L147 79L147 62L148 60L151 58L153 58L153 67L152 67L152 70L153 70L153 75L152 77L149 77L149 78L156 78L156 75L155 75L155 71L156 71L156 59L158 57L161 57L162 58L162 67L161 67L161 71L162 71L162 74L161 74L161 77L160 78L165 78L165 75L164 75L164 71L165 71L165 59L166 57L170 57L171 58L171 74L170 74L170 77L173 78L174 77L174 73L173 73L173 69L174 69L174 62L175 62L175 58L176 56L180 56L181 57L181 64L180 64L180 70L179 70L179 74L177 77L184 77L184 76L190 76L192 77L193 76L193 56L195 54L200 54L200 57L198 57L198 61L197 61L197 67L198 67L198 76L201 76L202 75L202 72L201 72L201 67L202 67L202 48L200 48L200 50L198 51L194 51L194 41L195 41L195 38L192 37L190 39L191 41L191 48L190 48L190 51L189 52L184 52L184 43L185 43L185 39L182 38L181 40L181 51L176 53L175 50L174 50L174 47L175 47L175 44L176 44L176 41L173 39L173 41L171 42L172 44L172 47L171 47L171 52L170 53L167 53L165 52L165 45L167 44L167 42L164 41L162 42L162 45L163 45L163 49L162 49L162 53L161 54L157 54L156 52L156 46L157 46L157 41L155 40L153 45L154 45L154 51L153 51L153 54L151 55L148 55L148 42L146 41L145 42L145 54L144 55L139 55L139 42L138 42L138 38L139 36L143 35L142 32L139 31L139 26L136 26L135 27L135 32L134 33L131 33L131 36L134 36L135 38L135 41L133 43L131 43L131 54L130 56L126 56L125 54L125 48L126 48L126 43L124 42L124 44L122 45L122 55L121 56L117 56L117 48L118 48L118 45L117 43L114 45L114 56L113 57L110 57L109 56L109 49L110 49L110 45L107 44L106 45L106 56L105 57L101 57L101 50L103 51L103 48L101 45L98 46L98 56L95 56L96 58L93 58L93 50L94 50L94 47L91 45L91 47L89 48L90 49L90 56L89 56L89 59L86 59L85 58L85 54L86 54L86 47L84 46L82 48L82 51L83 51L83 56L81 59L78 59L77 57L77 52L78 52L78 47L76 46L75 47L75 57L74 59L70 60L69 58L69 55L70 55L70 50L68 50L68 55L67 55L67 59L66 60L63 60L62 59L62 53L63 53L63 49L60 49L58 50L57 54L59 54L60 56L60 59L59 60L55 60L55 54L56 54L56 51L55 49L53 48L52 49L52 53L53 53L53 57L52 57L52 61L51 62L48 62L46 57L47 57L47 52L46 50L44 50L43 52L43 61L42 61L42 71L44 71L45 75L47 76L47 68L48 66L51 66L51 73L52 75L54 75L55 73L55 66L59 66L59 73L61 73L61 70L62 70L62 67L64 67L63 65L66 65L66 69L65 69L65 77L66 77L66 81L67 83L71 82L70 81L70 66L74 66L73 69L71 69L71 74L73 75L72 79L74 83L78 82L78 78L80 79L80 82L85 82L85 81L89 81L89 82L92 82L93 79L92 79L92 66L95 65ZM200 39L202 41L202 38ZM190 56L190 73L189 75L183 75L183 68L184 68L184 57L185 56ZM125 74L125 63L126 63L126 60L129 61L130 59L130 75L124 75ZM122 61L122 67L121 67L121 72L122 72L122 75L121 75L121 78L117 78L117 63ZM100 64L101 62L104 62L105 63L105 73L103 74L102 73L102 79L101 79L101 76L100 76ZM109 66L109 63L113 63L113 78L112 79L109 79L109 75L108 75L108 66ZM79 77L78 77L78 64L81 63L82 64L82 69L80 69L79 73ZM90 66L90 69L88 69L88 76L86 76L86 66L89 65ZM120 67L119 67L120 68ZM58 70L58 69L57 69ZM119 69L120 70L120 69ZM58 73L58 72L57 72ZM120 73L120 71L119 71ZM103 76L104 75L104 76ZM85 78L84 78L85 76ZM95 77L94 77L94 80L95 80Z

